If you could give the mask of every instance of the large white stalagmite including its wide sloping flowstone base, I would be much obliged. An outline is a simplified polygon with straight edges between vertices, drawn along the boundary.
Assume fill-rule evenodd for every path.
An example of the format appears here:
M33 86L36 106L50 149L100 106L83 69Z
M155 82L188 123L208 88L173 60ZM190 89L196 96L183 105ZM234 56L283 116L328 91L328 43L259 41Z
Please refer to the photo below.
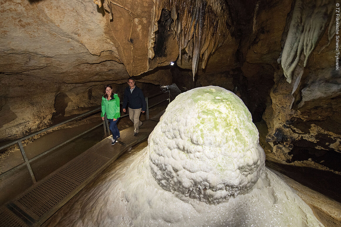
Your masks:
M196 88L167 107L148 147L107 168L48 226L323 226L264 162L239 97Z

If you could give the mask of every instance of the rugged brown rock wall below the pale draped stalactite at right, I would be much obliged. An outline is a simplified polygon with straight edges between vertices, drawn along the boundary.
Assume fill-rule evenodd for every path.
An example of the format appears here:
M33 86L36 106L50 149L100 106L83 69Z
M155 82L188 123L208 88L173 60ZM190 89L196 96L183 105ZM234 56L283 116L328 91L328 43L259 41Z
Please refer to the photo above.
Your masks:
M327 36L325 33L307 66L296 67L295 83L288 84L281 70L275 72L271 103L263 118L269 127L267 141L282 160L306 156L317 162L326 153L341 152L341 74L333 65L335 59L330 58L333 45L320 51L328 44Z

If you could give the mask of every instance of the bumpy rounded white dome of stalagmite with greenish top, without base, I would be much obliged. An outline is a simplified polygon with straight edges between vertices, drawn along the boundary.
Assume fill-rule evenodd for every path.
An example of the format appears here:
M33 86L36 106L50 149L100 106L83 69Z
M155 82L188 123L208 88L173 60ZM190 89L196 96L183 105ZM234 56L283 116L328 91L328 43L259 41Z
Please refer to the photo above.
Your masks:
M213 86L170 103L148 149L162 188L209 204L248 192L265 166L250 112L237 95Z

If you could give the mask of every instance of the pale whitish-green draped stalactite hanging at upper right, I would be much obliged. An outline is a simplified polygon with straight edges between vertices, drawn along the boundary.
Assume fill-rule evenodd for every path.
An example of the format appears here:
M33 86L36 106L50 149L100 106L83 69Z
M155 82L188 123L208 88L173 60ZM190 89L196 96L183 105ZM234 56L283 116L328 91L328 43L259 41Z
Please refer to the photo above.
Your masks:
M284 76L291 83L302 51L305 67L311 52L332 20L335 0L296 0L281 59ZM335 21L334 21L335 22ZM331 40L331 37L329 37Z

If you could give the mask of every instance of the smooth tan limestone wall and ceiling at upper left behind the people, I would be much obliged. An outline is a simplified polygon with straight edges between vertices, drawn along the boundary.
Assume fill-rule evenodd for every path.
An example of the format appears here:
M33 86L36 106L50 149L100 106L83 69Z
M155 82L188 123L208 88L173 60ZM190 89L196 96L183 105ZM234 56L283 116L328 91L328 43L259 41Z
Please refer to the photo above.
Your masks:
M105 84L126 86L130 75L151 70L152 1L112 7L114 20L92 1L1 3L0 140L40 130L54 115L97 107ZM170 72L145 78L169 84Z

